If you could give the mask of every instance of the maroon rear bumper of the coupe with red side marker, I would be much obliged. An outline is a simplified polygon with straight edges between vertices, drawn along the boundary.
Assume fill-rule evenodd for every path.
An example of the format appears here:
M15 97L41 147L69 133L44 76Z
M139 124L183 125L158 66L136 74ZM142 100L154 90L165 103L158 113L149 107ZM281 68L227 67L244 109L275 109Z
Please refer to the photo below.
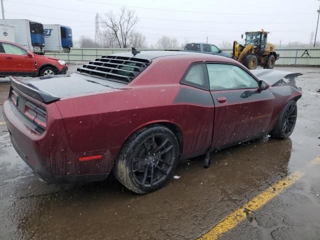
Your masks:
M14 149L34 173L48 183L103 180L112 169L118 148L74 152L66 137L63 121L55 103L46 105L47 127L42 134L32 130L11 100L3 104L3 115ZM29 121L29 122L28 122ZM85 149L84 149L85 150ZM100 159L79 161L79 157L102 155Z

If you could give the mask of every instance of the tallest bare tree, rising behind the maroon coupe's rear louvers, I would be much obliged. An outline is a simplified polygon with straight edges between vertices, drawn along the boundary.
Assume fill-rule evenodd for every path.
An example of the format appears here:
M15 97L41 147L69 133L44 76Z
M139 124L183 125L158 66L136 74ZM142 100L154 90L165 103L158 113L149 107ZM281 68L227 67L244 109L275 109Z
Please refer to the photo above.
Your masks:
M120 14L114 15L111 10L104 14L101 25L109 34L113 35L117 41L118 47L127 47L133 26L138 22L138 17L133 10L125 7L120 8Z

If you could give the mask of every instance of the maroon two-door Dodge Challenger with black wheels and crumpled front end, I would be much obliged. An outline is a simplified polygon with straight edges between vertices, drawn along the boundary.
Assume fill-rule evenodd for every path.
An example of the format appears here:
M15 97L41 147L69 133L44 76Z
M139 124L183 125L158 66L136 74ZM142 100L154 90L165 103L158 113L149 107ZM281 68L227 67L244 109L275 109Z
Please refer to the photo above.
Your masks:
M300 73L249 71L223 56L132 51L70 75L11 77L4 118L12 144L46 182L102 180L113 171L146 193L179 159L270 134L296 121Z

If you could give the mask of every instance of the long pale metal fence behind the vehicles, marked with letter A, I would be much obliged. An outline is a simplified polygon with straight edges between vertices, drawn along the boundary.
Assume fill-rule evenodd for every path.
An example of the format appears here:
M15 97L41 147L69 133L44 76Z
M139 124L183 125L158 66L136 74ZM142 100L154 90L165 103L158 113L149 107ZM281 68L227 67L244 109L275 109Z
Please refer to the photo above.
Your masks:
M163 50L163 49L139 49L139 50ZM131 48L72 48L70 53L45 53L67 61L90 61L101 55L128 52ZM231 49L225 49L231 53ZM320 66L320 48L278 48L280 54L276 65L312 65Z

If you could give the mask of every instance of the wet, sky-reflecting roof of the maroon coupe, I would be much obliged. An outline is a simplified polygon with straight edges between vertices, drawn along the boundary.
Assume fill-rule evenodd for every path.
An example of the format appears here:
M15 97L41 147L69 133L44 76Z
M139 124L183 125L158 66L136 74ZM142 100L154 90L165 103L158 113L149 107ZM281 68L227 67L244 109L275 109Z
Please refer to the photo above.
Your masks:
M201 52L193 52L193 51L179 51L179 50L163 50L163 51L141 51L136 55L133 55L131 52L122 52L122 53L115 53L112 54L114 56L127 56L127 57L136 57L136 58L144 58L152 60L156 57L165 57L165 56L177 56L177 55L204 55L207 56L205 53Z

